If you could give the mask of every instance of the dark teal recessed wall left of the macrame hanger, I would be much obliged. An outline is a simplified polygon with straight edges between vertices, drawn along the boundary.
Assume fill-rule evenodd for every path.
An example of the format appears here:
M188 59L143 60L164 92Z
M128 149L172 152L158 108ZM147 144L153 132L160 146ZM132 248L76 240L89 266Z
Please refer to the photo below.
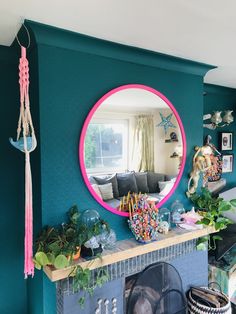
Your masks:
M24 156L9 144L16 136L19 114L18 57L0 46L0 313L27 313L24 279Z

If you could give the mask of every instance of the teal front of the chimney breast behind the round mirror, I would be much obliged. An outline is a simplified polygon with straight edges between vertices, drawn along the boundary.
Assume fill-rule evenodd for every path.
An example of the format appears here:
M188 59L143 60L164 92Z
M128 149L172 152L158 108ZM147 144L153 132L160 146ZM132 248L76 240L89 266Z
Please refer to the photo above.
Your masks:
M171 59L166 70L161 68L161 63L160 67L153 62L153 65L149 64L149 58L145 59L144 64L140 59L137 63L131 62L129 47L129 60L125 60L123 52L120 58L117 55L113 58L116 44L113 46L112 43L108 44L111 57L105 56L104 47L104 54L101 50L96 53L91 50L88 53L83 51L86 46L84 43L79 48L76 46L79 45L76 40L81 42L79 35L74 35L78 36L75 37L76 47L69 46L68 43L68 49L65 49L54 43L55 32L58 30L52 28L47 29L47 42L43 43L40 26L30 26L38 50L42 224L62 222L68 208L78 204L81 210L98 210L116 231L118 239L131 237L126 219L106 211L91 197L83 182L78 161L79 136L89 110L104 93L129 83L144 84L159 90L174 104L182 118L187 137L187 162L181 183L168 204L178 198L190 208L185 198L188 173L193 147L201 144L203 137L202 75L186 73L180 69L177 71L174 66L171 70ZM72 36L71 33L61 31L64 41L62 46L65 47L67 34L68 37ZM95 39L92 41L95 42L95 47L96 43L100 44ZM135 50L137 59L140 57L139 52L140 55L145 55L145 52ZM43 285L35 284L34 290L40 291L42 287L43 313L55 313L55 285L44 275ZM37 300L39 301L38 298ZM39 313L36 304L34 299L30 313Z

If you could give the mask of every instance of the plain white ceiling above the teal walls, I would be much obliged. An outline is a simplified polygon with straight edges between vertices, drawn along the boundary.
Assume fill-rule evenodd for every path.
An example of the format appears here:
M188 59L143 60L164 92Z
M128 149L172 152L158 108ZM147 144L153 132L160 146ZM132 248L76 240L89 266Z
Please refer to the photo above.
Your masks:
M0 44L24 18L216 65L205 82L236 88L235 0L1 0Z

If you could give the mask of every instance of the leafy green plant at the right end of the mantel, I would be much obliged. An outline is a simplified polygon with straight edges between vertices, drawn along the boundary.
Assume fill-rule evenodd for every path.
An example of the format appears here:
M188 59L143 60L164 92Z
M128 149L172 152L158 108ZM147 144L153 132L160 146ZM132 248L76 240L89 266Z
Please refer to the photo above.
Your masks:
M224 212L232 210L236 207L236 199L231 201L225 201L223 198L214 197L212 193L207 188L202 188L202 193L194 193L189 196L189 199L193 202L198 213L202 216L202 219L197 222L197 224L202 224L205 226L211 226L216 231L226 229L232 221L224 216ZM221 240L222 238L218 235L202 237L198 239L197 248L199 250L206 249L207 244L209 249L216 248L216 240Z

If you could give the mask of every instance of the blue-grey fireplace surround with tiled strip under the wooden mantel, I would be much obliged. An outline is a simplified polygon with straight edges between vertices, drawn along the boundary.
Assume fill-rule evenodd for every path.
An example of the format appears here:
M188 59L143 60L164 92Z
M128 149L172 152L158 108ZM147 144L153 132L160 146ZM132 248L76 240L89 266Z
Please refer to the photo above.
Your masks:
M102 288L96 289L92 297L86 297L84 309L78 304L81 293L74 291L73 278L58 281L57 314L125 313L125 278L158 261L169 262L176 267L185 291L190 285L207 285L207 252L197 251L196 240L191 240L105 266L110 280ZM98 311L99 302L101 312ZM105 302L108 303L108 312L105 311Z

